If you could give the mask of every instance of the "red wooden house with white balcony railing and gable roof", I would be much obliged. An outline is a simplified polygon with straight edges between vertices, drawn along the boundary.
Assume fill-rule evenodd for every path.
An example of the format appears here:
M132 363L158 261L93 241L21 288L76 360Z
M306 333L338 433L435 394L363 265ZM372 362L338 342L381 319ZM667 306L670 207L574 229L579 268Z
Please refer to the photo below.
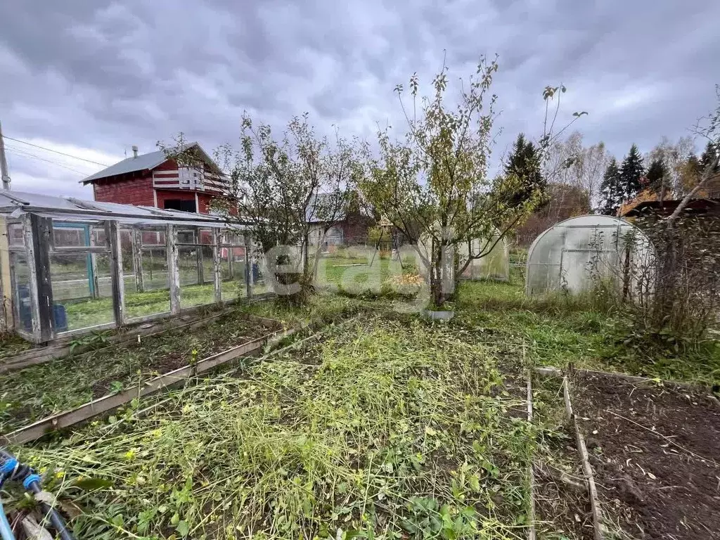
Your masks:
M158 150L132 157L109 166L82 181L92 184L96 201L135 204L168 210L207 214L213 197L228 194L225 176L197 143L189 143L201 163L178 166Z

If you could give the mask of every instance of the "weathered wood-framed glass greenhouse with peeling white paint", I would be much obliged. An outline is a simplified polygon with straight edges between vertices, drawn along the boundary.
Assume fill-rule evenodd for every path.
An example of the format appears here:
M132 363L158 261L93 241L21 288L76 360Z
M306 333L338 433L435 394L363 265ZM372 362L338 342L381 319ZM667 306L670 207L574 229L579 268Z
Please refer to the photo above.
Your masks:
M0 330L45 343L222 305L263 290L259 258L212 215L0 192Z

